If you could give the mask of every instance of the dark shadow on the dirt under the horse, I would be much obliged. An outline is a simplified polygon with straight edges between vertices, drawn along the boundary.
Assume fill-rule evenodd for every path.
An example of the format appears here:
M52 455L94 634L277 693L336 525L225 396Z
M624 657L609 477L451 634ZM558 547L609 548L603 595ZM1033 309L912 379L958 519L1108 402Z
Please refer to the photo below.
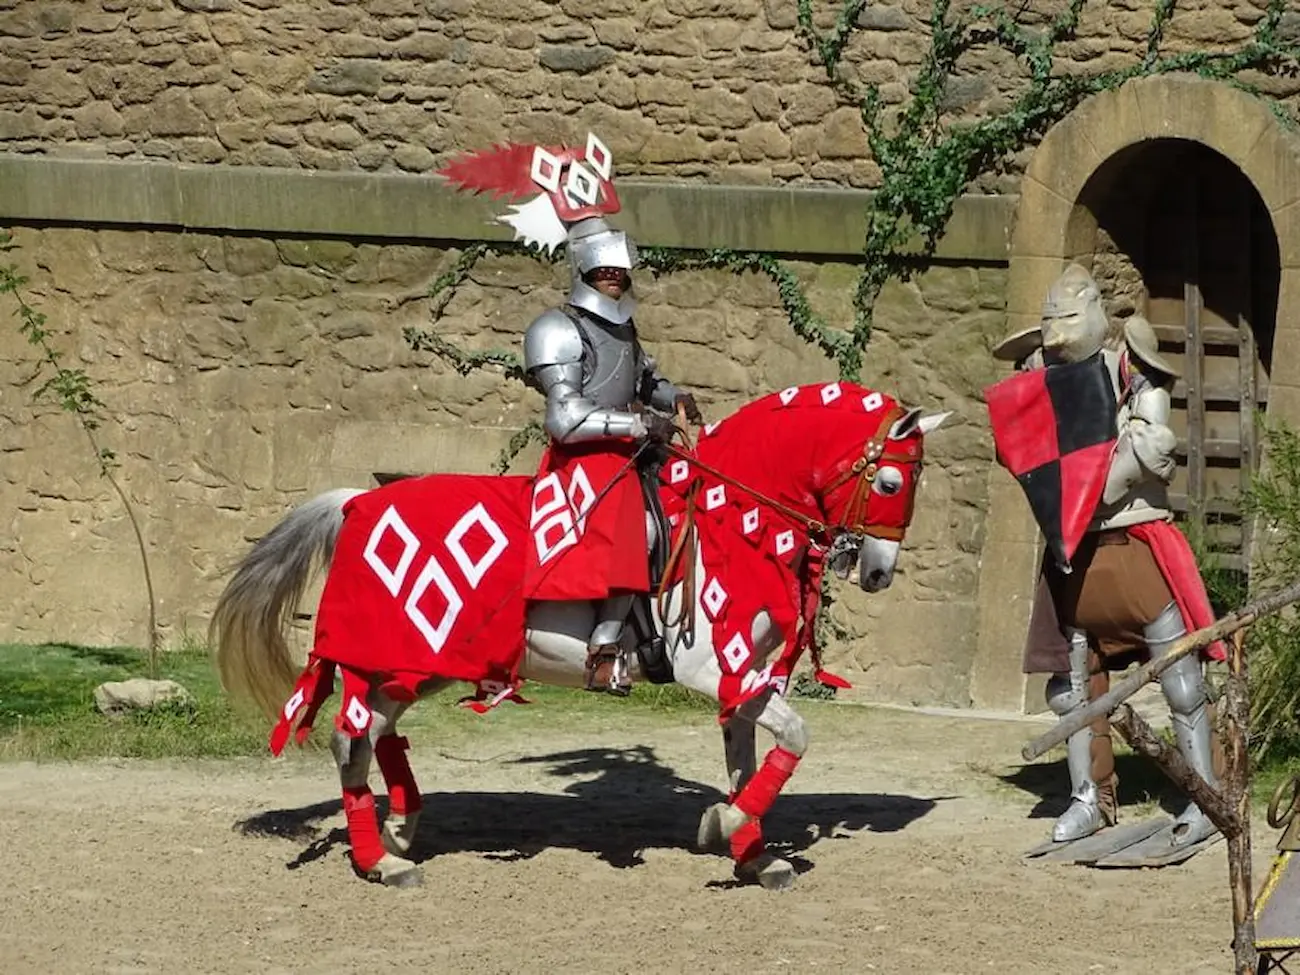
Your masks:
M540 792L424 793L420 827L410 857L424 862L446 853L480 853L488 859L530 859L543 850L590 853L611 867L645 862L649 849L696 849L705 807L725 801L718 789L679 776L653 748L578 749L514 759L508 764L545 766L555 777L584 776L560 794ZM373 781L373 780L372 780ZM879 793L790 793L777 798L763 819L768 848L796 870L811 870L798 854L823 840L850 833L897 832L954 797L915 798ZM381 815L386 800L377 805ZM341 811L339 800L299 809L276 809L242 819L234 829L307 842L286 863L296 870L347 845L347 833L322 823ZM703 854L714 855L714 854Z

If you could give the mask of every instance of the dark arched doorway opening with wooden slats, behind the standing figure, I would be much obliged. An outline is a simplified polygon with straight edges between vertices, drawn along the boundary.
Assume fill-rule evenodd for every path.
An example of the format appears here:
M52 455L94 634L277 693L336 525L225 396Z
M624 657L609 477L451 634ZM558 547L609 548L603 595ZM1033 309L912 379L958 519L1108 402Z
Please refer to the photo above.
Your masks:
M1187 139L1121 150L1078 205L1096 230L1091 247L1078 234L1074 243L1092 252L1117 330L1144 315L1183 374L1171 422L1176 517L1221 566L1244 569L1249 520L1238 498L1258 462L1254 413L1268 403L1280 285L1269 211L1231 160Z

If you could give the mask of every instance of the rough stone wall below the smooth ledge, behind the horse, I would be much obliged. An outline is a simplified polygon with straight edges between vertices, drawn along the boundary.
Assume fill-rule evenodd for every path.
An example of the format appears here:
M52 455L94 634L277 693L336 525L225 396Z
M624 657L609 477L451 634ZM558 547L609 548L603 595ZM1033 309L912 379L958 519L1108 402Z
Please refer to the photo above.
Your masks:
M432 247L159 231L20 228L17 263L55 343L107 402L101 430L143 519L165 636L199 634L222 571L289 506L374 473L488 471L541 398L497 372L459 376L410 351L429 282L454 255ZM797 264L818 308L849 315L854 269ZM957 416L930 445L893 589L846 598L855 640L832 656L870 670L872 694L966 703L991 458L976 391L993 377L1002 269L939 266L883 299L867 381ZM562 268L485 260L439 333L517 348L560 299ZM710 417L794 382L835 377L793 335L759 276L645 277L638 322L663 369ZM957 324L961 328L957 328ZM0 332L0 640L139 642L140 569L129 523L84 437L34 406L36 363ZM530 452L519 462L536 462ZM861 637L861 638L857 638Z

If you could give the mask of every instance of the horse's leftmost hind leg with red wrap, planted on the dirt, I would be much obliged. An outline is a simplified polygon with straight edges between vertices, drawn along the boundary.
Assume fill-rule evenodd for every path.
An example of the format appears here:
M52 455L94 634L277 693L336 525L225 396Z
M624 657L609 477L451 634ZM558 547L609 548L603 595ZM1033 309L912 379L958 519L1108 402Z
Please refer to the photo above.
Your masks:
M374 745L391 729L395 715L404 710L404 706L378 690L370 692L369 705L370 727L365 734L354 738L335 729L330 737L330 750L334 753L339 784L343 786L343 815L347 818L352 863L367 880L378 880L393 887L415 887L421 883L420 868L411 861L384 849L374 793L369 786Z

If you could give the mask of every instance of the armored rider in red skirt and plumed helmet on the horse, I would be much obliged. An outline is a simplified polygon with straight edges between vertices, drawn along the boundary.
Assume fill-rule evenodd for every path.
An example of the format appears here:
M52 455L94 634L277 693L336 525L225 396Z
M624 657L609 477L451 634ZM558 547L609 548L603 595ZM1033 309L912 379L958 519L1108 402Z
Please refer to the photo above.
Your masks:
M529 246L547 254L567 248L567 302L543 311L524 333L525 382L546 396L549 438L533 488L536 546L524 595L590 602L586 688L625 696L629 619L642 655L662 654L647 598L667 558L658 500L663 454L654 445L672 438L673 412L696 424L703 417L694 396L659 373L637 338L637 248L607 220L620 209L612 165L610 151L589 134L581 152L507 144L439 172L474 192L532 196L500 220ZM647 551L651 559L633 555Z

